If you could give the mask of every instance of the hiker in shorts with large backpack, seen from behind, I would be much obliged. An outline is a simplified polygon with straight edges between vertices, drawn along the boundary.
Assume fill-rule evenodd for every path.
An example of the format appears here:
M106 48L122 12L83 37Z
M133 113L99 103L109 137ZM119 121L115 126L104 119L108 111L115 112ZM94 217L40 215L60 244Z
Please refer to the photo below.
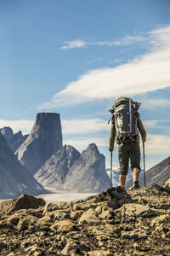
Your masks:
M139 133L142 137L142 142L145 143L146 131L138 113L139 106L139 102L133 102L128 97L120 97L110 109L112 122L109 150L113 151L116 138L120 165L119 181L123 188L126 183L129 159L131 160L133 171L133 189L140 188Z

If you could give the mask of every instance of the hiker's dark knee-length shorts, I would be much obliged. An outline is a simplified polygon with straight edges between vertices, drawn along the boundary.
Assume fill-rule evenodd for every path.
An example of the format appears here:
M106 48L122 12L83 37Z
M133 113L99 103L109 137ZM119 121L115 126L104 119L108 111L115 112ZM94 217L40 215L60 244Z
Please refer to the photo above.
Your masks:
M128 162L131 161L131 168L138 168L140 170L140 148L139 143L122 143L118 146L119 151L119 174L127 175Z

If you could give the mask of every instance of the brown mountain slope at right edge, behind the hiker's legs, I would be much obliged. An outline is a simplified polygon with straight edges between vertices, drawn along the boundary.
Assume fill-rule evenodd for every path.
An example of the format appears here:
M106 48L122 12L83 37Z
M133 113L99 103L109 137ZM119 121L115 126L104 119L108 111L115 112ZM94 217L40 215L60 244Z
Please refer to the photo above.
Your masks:
M170 178L170 156L145 172L146 186L150 186L154 183L162 185L168 178ZM128 181L126 188L130 188L132 184L133 180ZM144 186L144 173L139 177L139 184L142 187Z

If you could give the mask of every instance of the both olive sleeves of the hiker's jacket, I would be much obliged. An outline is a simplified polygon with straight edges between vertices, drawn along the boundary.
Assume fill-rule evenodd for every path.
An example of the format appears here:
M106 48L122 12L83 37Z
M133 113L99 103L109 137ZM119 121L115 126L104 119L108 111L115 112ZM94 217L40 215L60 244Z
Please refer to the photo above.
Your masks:
M144 130L144 125L142 123L142 120L140 119L139 113L137 115L137 127L138 127L140 135L142 137L142 141L145 142L146 141L146 131ZM115 121L114 121L114 119L112 119L111 134L110 134L110 148L114 147L115 138L116 138Z

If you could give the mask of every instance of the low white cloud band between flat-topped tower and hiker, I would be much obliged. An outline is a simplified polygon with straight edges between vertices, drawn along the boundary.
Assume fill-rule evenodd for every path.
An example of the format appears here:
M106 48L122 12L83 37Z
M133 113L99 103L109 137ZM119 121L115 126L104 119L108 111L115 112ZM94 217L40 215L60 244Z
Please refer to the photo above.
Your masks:
M62 120L63 134L88 134L97 131L110 131L111 126L103 119Z

